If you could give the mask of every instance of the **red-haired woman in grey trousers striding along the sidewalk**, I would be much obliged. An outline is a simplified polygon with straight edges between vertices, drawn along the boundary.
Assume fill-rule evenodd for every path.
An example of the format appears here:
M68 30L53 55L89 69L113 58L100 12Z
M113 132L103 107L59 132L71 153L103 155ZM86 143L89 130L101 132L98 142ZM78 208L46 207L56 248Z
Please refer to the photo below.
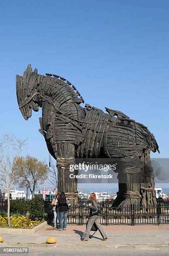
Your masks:
M107 239L107 235L104 233L102 225L99 223L99 212L98 212L98 207L97 207L97 199L96 199L96 194L91 193L90 194L90 199L92 203L89 203L89 208L90 208L90 214L89 214L89 221L87 223L87 227L85 232L83 233L82 240L81 241L88 241L89 239L89 233L92 228L92 225L95 223L97 226L97 229L99 230L101 236L102 236L102 241L105 241Z

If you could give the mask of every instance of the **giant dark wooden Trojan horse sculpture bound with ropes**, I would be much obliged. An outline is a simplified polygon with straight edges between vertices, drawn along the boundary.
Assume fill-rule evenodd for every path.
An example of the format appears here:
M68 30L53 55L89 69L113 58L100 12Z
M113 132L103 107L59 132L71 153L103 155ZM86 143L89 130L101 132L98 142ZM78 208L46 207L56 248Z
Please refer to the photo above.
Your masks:
M114 205L155 206L154 175L150 150L159 147L146 126L124 113L106 108L80 106L84 100L74 85L55 74L32 72L16 76L17 101L27 120L42 108L40 133L57 161L59 191L76 192L77 180L68 168L75 158L119 158L126 168L118 173L119 192ZM126 182L121 182L124 179Z

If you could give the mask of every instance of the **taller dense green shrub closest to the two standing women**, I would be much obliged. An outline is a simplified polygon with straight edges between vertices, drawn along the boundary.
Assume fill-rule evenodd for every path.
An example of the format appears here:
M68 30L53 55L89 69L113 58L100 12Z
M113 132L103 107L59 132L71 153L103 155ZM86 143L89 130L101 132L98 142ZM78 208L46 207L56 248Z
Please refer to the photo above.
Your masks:
M35 196L30 202L29 217L31 220L42 220L46 218L45 206L42 196Z

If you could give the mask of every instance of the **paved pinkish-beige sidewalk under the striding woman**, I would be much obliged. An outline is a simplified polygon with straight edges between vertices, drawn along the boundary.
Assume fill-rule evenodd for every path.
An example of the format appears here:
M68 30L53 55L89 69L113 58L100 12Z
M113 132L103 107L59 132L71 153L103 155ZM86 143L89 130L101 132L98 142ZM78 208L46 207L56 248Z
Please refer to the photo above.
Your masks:
M169 225L111 225L104 226L107 241L101 241L99 231L87 242L80 241L85 225L67 225L67 230L57 231L46 225L35 234L3 234L4 243L0 246L49 246L47 237L54 236L58 248L111 249L111 248L169 248ZM94 232L90 232L92 234ZM0 234L1 236L1 234Z

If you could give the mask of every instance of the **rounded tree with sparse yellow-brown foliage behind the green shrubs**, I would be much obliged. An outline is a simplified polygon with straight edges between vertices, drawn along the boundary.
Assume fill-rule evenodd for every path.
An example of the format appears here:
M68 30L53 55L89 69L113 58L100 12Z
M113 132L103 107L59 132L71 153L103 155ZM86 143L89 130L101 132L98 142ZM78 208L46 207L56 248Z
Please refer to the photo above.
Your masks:
M38 184L43 184L47 179L48 167L45 162L38 161L32 156L20 156L17 159L17 183L20 187L28 187L30 192L35 192ZM33 188L33 189L32 189Z

